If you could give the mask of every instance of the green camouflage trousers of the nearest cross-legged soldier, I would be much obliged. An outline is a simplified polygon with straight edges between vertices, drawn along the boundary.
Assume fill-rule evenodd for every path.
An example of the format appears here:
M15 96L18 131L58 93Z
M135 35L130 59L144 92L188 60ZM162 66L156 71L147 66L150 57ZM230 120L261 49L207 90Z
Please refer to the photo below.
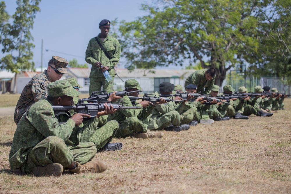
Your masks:
M97 149L91 142L67 146L61 138L49 136L33 147L21 172L31 173L33 167L51 163L60 163L64 168L73 161L84 164L94 158L96 152Z

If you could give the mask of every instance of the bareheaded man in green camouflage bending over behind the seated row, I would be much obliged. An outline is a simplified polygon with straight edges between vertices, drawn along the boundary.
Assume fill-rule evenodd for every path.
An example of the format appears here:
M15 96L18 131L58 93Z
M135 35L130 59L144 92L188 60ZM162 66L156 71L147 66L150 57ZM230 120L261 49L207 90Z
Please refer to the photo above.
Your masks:
M215 74L214 68L197 70L189 75L184 87L186 88L189 84L195 84L197 86L197 93L201 91L202 94L209 94L214 85Z

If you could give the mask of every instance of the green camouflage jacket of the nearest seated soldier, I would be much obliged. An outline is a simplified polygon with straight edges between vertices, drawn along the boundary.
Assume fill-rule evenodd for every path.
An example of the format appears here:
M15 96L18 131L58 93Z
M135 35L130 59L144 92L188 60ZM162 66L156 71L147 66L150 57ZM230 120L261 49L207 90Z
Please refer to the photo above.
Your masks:
M69 117L60 115L56 118L52 103L47 99L33 104L17 125L9 153L10 169L24 165L32 148L45 138L57 136L68 140L75 127L75 122Z

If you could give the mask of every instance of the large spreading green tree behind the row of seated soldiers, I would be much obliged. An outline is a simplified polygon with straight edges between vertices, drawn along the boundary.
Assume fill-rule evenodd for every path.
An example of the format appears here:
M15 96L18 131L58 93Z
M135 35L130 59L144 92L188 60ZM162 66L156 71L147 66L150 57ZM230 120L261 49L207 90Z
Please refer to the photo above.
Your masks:
M127 68L199 60L203 68L217 70L215 84L221 86L227 70L257 52L253 37L261 6L263 2L253 0L160 0L143 5L148 15L120 26Z

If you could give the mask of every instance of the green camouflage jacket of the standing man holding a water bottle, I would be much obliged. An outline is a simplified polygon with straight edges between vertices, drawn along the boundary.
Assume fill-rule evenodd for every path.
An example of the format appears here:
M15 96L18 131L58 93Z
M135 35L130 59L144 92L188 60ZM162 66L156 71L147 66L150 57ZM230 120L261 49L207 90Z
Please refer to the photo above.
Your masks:
M97 61L101 62L103 65L109 67L109 74L111 76L115 76L115 69L114 66L118 63L120 59L120 52L121 47L119 42L116 38L113 38L111 35L108 35L107 38L102 42L99 38L100 34L97 35L98 40L100 41L101 45L107 51L111 60L105 55L102 51L98 42L95 38L91 38L88 43L88 47L86 49L86 62L92 65L92 69L90 72L90 77L103 77L103 73L99 67L95 66Z

